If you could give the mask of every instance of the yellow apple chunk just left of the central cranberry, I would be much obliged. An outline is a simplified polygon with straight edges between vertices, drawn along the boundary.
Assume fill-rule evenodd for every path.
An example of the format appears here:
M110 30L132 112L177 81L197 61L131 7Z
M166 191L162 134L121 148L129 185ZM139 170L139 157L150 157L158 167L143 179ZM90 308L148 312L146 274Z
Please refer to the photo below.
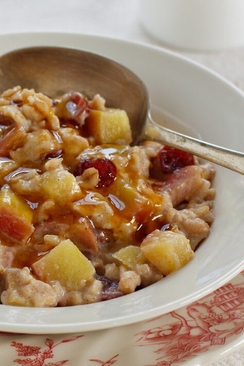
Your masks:
M80 188L73 174L64 169L54 169L41 175L41 185L45 195L59 204L79 197Z

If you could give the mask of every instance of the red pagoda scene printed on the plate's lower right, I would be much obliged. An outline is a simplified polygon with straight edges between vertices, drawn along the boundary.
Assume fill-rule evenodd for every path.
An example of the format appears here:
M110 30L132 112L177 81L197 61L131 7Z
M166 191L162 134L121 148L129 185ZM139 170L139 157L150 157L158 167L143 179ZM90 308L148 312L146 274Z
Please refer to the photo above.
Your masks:
M244 276L244 271L242 272ZM231 282L185 308L171 312L171 322L136 334L137 345L154 345L154 364L172 366L225 343L244 327L244 282ZM155 320L152 319L150 321Z

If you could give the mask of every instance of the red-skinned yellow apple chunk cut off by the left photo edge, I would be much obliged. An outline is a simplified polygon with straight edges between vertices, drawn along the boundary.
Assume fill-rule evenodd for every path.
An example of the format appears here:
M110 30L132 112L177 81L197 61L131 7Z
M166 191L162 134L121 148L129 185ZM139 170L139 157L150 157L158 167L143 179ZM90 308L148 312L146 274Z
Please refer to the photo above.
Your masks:
M0 234L16 243L25 243L32 232L33 212L27 202L3 187L0 192Z

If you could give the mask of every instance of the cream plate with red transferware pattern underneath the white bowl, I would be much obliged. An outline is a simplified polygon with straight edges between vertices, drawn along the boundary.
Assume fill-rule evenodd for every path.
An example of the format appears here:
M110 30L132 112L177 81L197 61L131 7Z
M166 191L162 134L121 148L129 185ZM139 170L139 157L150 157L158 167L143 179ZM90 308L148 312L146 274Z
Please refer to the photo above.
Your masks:
M244 271L141 323L71 335L0 334L1 366L205 366L244 341Z

